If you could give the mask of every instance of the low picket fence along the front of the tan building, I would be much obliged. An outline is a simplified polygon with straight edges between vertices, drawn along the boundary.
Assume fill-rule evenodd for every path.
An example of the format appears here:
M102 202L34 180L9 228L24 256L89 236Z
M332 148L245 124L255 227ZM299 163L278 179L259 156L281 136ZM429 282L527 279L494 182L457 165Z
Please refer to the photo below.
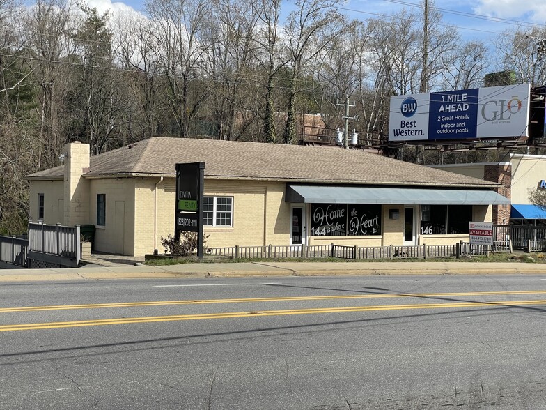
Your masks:
M345 246L336 245L265 245L231 246L226 248L207 248L207 255L230 257L231 259L427 259L460 258L461 256L487 255L489 252L512 252L511 245L416 245L416 246Z

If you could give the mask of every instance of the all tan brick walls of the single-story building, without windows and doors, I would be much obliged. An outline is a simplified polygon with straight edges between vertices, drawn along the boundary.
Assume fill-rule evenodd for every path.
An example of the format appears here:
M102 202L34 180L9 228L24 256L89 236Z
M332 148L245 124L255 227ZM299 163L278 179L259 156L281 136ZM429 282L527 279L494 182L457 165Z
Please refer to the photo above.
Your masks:
M106 225L97 227L95 250L144 255L157 249L164 251L161 238L174 234L175 179L132 178L91 179L88 219L81 223L96 224L97 195L107 198ZM156 190L157 184L157 190ZM31 181L31 215L36 215L38 192L45 193L46 222L54 215L54 202L62 202L62 181ZM205 195L233 197L233 227L205 227L211 248L234 245L288 245L290 243L291 206L284 200L284 183L258 181L205 181ZM157 204L157 211L156 206ZM58 208L58 207L57 207ZM306 209L306 232L309 234L309 204ZM397 209L399 218L389 219L389 210ZM121 211L123 218L116 218ZM419 207L416 208L420 212ZM157 225L155 215L157 214ZM492 206L474 206L474 220L491 220ZM404 206L382 206L382 234L379 236L310 236L308 245L387 246L403 244ZM419 229L419 227L416 227ZM451 244L468 236L421 236L418 243Z

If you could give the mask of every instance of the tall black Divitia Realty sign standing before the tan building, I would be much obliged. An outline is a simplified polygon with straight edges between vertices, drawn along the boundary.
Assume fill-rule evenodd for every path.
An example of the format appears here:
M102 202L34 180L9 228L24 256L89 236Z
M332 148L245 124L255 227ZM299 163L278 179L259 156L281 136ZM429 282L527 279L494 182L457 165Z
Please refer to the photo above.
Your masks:
M180 231L197 232L197 257L203 261L203 185L205 162L176 164L176 241Z

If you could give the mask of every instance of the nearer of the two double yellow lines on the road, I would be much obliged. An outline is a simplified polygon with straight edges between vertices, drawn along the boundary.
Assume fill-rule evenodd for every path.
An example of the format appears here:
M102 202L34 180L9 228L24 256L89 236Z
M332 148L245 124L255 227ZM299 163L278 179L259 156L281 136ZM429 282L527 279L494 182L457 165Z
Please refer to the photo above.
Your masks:
M527 305L546 305L546 300L537 301L494 301L494 302L455 302L455 303L422 303L418 305L375 305L375 306L354 306L354 307L323 307L311 309L292 310L258 310L253 312L224 312L209 314L180 314L171 316L153 317L129 317L118 319L95 319L81 321L59 321L50 323L34 324L12 324L0 326L0 332L8 331L29 331L52 328L75 328L84 326L107 326L116 324L137 324L162 321L184 321L184 320L205 320L205 319L230 319L236 317L265 317L265 316L286 316L289 314L329 314L348 312L373 312L380 310L412 310L412 309L446 309L446 308L469 308L469 307L517 307Z

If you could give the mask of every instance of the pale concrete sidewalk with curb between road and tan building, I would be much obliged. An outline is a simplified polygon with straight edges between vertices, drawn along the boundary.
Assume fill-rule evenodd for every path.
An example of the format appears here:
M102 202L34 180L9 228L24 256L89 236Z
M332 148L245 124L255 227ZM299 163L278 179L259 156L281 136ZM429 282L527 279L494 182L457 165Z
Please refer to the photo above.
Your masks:
M546 264L453 262L253 262L170 266L98 266L65 269L0 269L0 282L123 278L214 278L312 275L544 274Z

